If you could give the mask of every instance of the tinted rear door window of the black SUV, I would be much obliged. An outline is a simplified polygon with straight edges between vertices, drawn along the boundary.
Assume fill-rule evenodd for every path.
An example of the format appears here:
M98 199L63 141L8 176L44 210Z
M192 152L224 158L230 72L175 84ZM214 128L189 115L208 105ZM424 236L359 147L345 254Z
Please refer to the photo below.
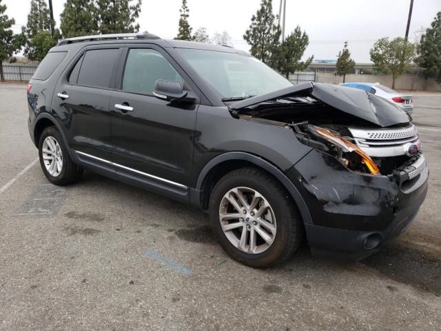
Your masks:
M78 84L98 88L110 88L115 63L119 59L119 54L119 48L105 48L85 52L83 55L83 63L81 63L79 70Z

